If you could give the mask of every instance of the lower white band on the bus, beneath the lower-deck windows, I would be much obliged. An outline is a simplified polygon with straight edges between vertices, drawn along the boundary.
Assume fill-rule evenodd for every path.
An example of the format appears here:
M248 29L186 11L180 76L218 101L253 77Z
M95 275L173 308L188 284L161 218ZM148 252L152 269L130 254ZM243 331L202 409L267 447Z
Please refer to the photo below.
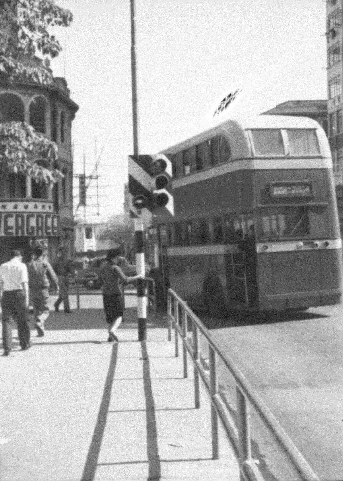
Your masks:
M317 245L318 244L318 245ZM319 239L319 240L299 240L299 241L279 241L279 242L257 242L257 253L276 253L276 252L301 252L333 250L342 248L342 239ZM237 244L218 244L218 245L199 245L199 246L179 246L168 247L167 254L175 255L224 255L238 253Z

